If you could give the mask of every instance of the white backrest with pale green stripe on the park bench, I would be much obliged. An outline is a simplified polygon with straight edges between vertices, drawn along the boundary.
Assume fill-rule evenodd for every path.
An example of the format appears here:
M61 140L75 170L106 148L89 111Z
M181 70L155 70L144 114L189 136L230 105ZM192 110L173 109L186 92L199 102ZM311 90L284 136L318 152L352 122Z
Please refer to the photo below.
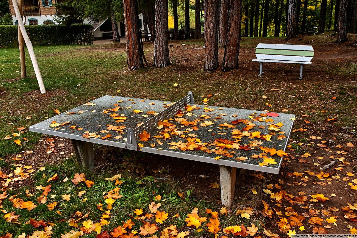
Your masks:
M257 59L310 62L313 57L311 45L258 44Z

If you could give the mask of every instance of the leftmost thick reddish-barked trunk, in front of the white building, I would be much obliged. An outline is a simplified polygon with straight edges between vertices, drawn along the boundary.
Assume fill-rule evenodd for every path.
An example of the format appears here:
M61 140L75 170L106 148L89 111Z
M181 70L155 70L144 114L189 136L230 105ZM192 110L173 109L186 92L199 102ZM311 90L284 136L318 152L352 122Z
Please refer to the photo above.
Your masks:
M139 13L136 0L123 0L126 32L126 57L129 70L144 68L139 33Z

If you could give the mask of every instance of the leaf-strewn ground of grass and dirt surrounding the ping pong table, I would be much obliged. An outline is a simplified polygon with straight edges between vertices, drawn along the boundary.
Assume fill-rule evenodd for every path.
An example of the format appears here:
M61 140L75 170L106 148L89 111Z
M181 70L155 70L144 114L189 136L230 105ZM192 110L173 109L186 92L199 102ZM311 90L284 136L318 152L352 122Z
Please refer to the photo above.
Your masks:
M351 37L350 44L356 40ZM259 42L285 40L243 38L240 67L226 73L203 71L202 40L172 41L171 66L134 72L126 68L125 44L36 46L46 95L39 92L30 57L28 77L20 79L18 49L0 49L0 177L6 192L0 195L0 236L356 233L356 47L323 36L291 40L315 49L299 81L300 66L290 64L265 64L264 76L257 77L251 59ZM152 65L154 45L145 42L144 51ZM221 62L222 49L219 54ZM95 147L99 171L92 174L76 164L69 140L27 130L54 110L104 95L176 101L188 91L196 103L211 94L208 105L296 114L281 174L242 171L235 203L223 208L215 188L218 166Z

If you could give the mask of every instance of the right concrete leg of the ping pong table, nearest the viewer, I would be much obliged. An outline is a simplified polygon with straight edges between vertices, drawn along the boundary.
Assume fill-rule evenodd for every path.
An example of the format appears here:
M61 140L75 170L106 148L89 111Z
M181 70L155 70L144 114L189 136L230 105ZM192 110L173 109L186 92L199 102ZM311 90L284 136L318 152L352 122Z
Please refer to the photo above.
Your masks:
M221 200L222 205L230 207L233 203L236 186L237 168L220 165ZM240 169L238 169L238 173Z

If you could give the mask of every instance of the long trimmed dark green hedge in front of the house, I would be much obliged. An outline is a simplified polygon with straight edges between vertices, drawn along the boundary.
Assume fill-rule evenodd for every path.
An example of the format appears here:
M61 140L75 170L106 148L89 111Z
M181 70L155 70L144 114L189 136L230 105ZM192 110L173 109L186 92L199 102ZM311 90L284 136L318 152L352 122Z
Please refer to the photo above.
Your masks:
M26 25L32 45L90 45L93 43L90 24ZM16 47L17 26L0 25L0 47Z

